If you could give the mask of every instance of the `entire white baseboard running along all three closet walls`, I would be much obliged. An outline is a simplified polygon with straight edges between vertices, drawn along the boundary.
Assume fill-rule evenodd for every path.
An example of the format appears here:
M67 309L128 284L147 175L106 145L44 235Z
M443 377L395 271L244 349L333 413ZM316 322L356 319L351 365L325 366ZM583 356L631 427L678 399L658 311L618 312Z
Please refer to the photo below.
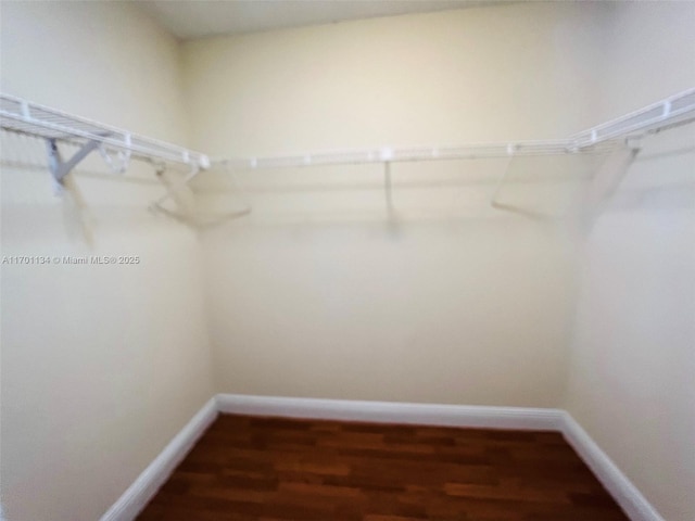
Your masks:
M100 521L131 521L214 421L217 412L378 423L558 431L632 521L665 521L632 482L561 409L356 402L218 394L189 421Z

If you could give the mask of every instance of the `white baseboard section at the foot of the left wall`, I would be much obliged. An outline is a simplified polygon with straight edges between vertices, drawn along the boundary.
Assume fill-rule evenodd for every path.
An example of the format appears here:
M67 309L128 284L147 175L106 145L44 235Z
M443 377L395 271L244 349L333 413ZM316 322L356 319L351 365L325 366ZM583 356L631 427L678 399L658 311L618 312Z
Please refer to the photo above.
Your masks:
M164 447L147 469L123 493L100 521L131 521L166 483L176 466L181 462L198 439L217 417L215 398L211 398L184 429Z

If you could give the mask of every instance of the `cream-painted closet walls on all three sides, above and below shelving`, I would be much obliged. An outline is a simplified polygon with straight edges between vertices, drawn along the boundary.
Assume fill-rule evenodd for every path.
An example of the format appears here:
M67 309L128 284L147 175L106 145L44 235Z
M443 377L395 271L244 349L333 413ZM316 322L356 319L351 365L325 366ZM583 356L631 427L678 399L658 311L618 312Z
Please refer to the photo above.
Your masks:
M179 69L126 2L3 2L1 80L224 156L552 138L693 86L693 10L351 22L188 42ZM506 212L488 205L503 161L394 165L391 212L379 167L256 171L254 212L202 244L144 212L147 169L83 175L92 246L46 171L3 167L3 255L142 259L2 266L9 519L98 518L211 395L203 285L215 391L566 406L666 519L692 519L692 142L645 142L579 256L561 221L599 157L515 161ZM201 179L210 208L243 206L220 187Z

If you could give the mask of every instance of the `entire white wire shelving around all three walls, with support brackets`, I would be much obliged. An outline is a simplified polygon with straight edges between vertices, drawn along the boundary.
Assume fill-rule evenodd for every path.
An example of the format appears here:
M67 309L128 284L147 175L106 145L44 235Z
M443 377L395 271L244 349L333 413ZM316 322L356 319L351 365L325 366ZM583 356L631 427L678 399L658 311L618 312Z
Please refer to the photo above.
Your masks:
M167 163L186 165L190 169L189 174L179 182L165 182L165 195L153 203L152 207L161 211L165 211L162 206L165 201L176 201L178 192L188 189L188 182L199 171L212 166L225 168L230 175L233 175L238 170L382 164L387 167L384 171L387 179L389 179L389 165L397 162L486 157L508 157L511 160L517 156L580 154L615 150L621 142L637 150L639 145L635 142L640 138L693 122L695 122L695 88L673 94L566 139L469 143L454 147L375 148L267 157L222 158L211 162L207 155L200 152L0 93L0 127L12 132L46 139L49 167L54 179L61 186L65 176L88 154L97 150L101 152L114 171L124 171L130 157L153 163L160 168ZM77 145L79 150L70 160L63 161L58 150L59 142ZM110 155L114 152L117 154L118 161L114 161L114 157ZM505 176L506 171L498 181L495 195L500 191ZM387 188L390 190L390 182L387 182ZM495 195L491 200L493 205L495 204ZM170 212L166 211L166 213ZM248 211L244 209L244 213Z

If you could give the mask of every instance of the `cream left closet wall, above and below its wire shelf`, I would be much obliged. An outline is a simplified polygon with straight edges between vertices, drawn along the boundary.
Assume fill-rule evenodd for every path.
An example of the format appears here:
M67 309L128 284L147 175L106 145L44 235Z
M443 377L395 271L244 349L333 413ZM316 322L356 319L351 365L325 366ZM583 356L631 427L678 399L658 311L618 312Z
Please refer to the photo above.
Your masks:
M127 2L3 2L2 91L184 142L177 43ZM3 138L4 139L4 138ZM12 521L93 521L212 395L193 231L147 212L149 168L83 176L93 245L52 193L43 143L3 141L2 503ZM90 169L101 169L91 161ZM129 180L128 180L129 179Z

